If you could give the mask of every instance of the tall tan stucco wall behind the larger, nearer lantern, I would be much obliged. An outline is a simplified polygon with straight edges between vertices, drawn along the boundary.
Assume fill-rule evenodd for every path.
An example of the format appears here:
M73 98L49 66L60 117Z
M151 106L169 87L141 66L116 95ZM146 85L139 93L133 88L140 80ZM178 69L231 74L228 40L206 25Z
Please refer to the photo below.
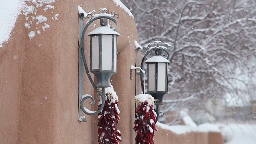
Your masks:
M77 120L78 5L86 12L108 8L120 15L118 72L112 85L119 96L121 143L134 143L135 80L130 80L130 65L136 60L134 40L138 41L134 19L113 0L59 0L52 5L55 8L47 13L42 8L37 12L59 14L57 21L48 18L50 29L30 40L20 15L8 43L0 48L0 144L97 143L96 116L86 116L86 123ZM84 84L84 93L93 95L86 76ZM93 110L94 106L86 106Z

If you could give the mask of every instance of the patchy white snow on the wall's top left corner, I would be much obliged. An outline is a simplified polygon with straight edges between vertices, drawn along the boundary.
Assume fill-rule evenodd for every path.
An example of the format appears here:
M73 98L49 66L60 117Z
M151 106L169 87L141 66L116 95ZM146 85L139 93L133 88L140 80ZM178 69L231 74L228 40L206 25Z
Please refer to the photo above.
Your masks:
M40 35L40 30L46 31L47 28L50 28L50 25L46 22L51 18L47 18L44 14L48 10L54 9L51 4L56 1L58 0L2 0L0 2L0 47L10 38L20 14L23 14L27 21L24 23L24 27L31 30L28 33L30 40L36 34ZM44 13L38 14L38 8L42 8ZM59 14L52 13L52 20L58 20L58 16ZM31 29L32 25L36 26L34 30Z

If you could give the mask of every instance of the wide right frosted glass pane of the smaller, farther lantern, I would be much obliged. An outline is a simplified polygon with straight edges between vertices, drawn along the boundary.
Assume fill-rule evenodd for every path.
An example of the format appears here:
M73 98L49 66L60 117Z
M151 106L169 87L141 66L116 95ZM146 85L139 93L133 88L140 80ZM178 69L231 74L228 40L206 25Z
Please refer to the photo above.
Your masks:
M166 63L158 62L157 76L157 91L164 92L166 82Z

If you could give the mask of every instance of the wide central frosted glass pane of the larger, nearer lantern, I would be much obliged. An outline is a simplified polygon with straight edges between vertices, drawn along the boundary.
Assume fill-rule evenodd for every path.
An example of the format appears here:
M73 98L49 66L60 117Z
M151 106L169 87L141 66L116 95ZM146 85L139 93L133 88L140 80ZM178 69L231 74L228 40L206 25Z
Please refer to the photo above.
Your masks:
M102 35L102 70L112 70L112 35Z

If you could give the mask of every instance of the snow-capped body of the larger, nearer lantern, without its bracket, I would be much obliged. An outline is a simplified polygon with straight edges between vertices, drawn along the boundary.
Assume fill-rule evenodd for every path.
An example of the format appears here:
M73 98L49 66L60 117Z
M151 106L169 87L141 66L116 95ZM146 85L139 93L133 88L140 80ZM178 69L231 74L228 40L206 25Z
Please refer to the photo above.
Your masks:
M90 68L97 78L96 87L109 87L110 77L116 73L117 37L120 34L108 26L102 26L88 36L91 37Z

